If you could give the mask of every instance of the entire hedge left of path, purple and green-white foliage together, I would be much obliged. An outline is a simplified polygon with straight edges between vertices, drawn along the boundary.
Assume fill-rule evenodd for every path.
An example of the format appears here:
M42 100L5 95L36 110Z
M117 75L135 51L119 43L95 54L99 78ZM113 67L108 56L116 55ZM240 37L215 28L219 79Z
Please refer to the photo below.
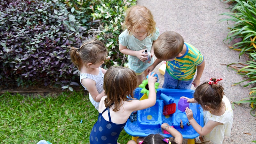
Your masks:
M97 37L108 47L104 68L124 65L119 53L124 10L136 0L0 2L0 89L79 83L68 46Z

